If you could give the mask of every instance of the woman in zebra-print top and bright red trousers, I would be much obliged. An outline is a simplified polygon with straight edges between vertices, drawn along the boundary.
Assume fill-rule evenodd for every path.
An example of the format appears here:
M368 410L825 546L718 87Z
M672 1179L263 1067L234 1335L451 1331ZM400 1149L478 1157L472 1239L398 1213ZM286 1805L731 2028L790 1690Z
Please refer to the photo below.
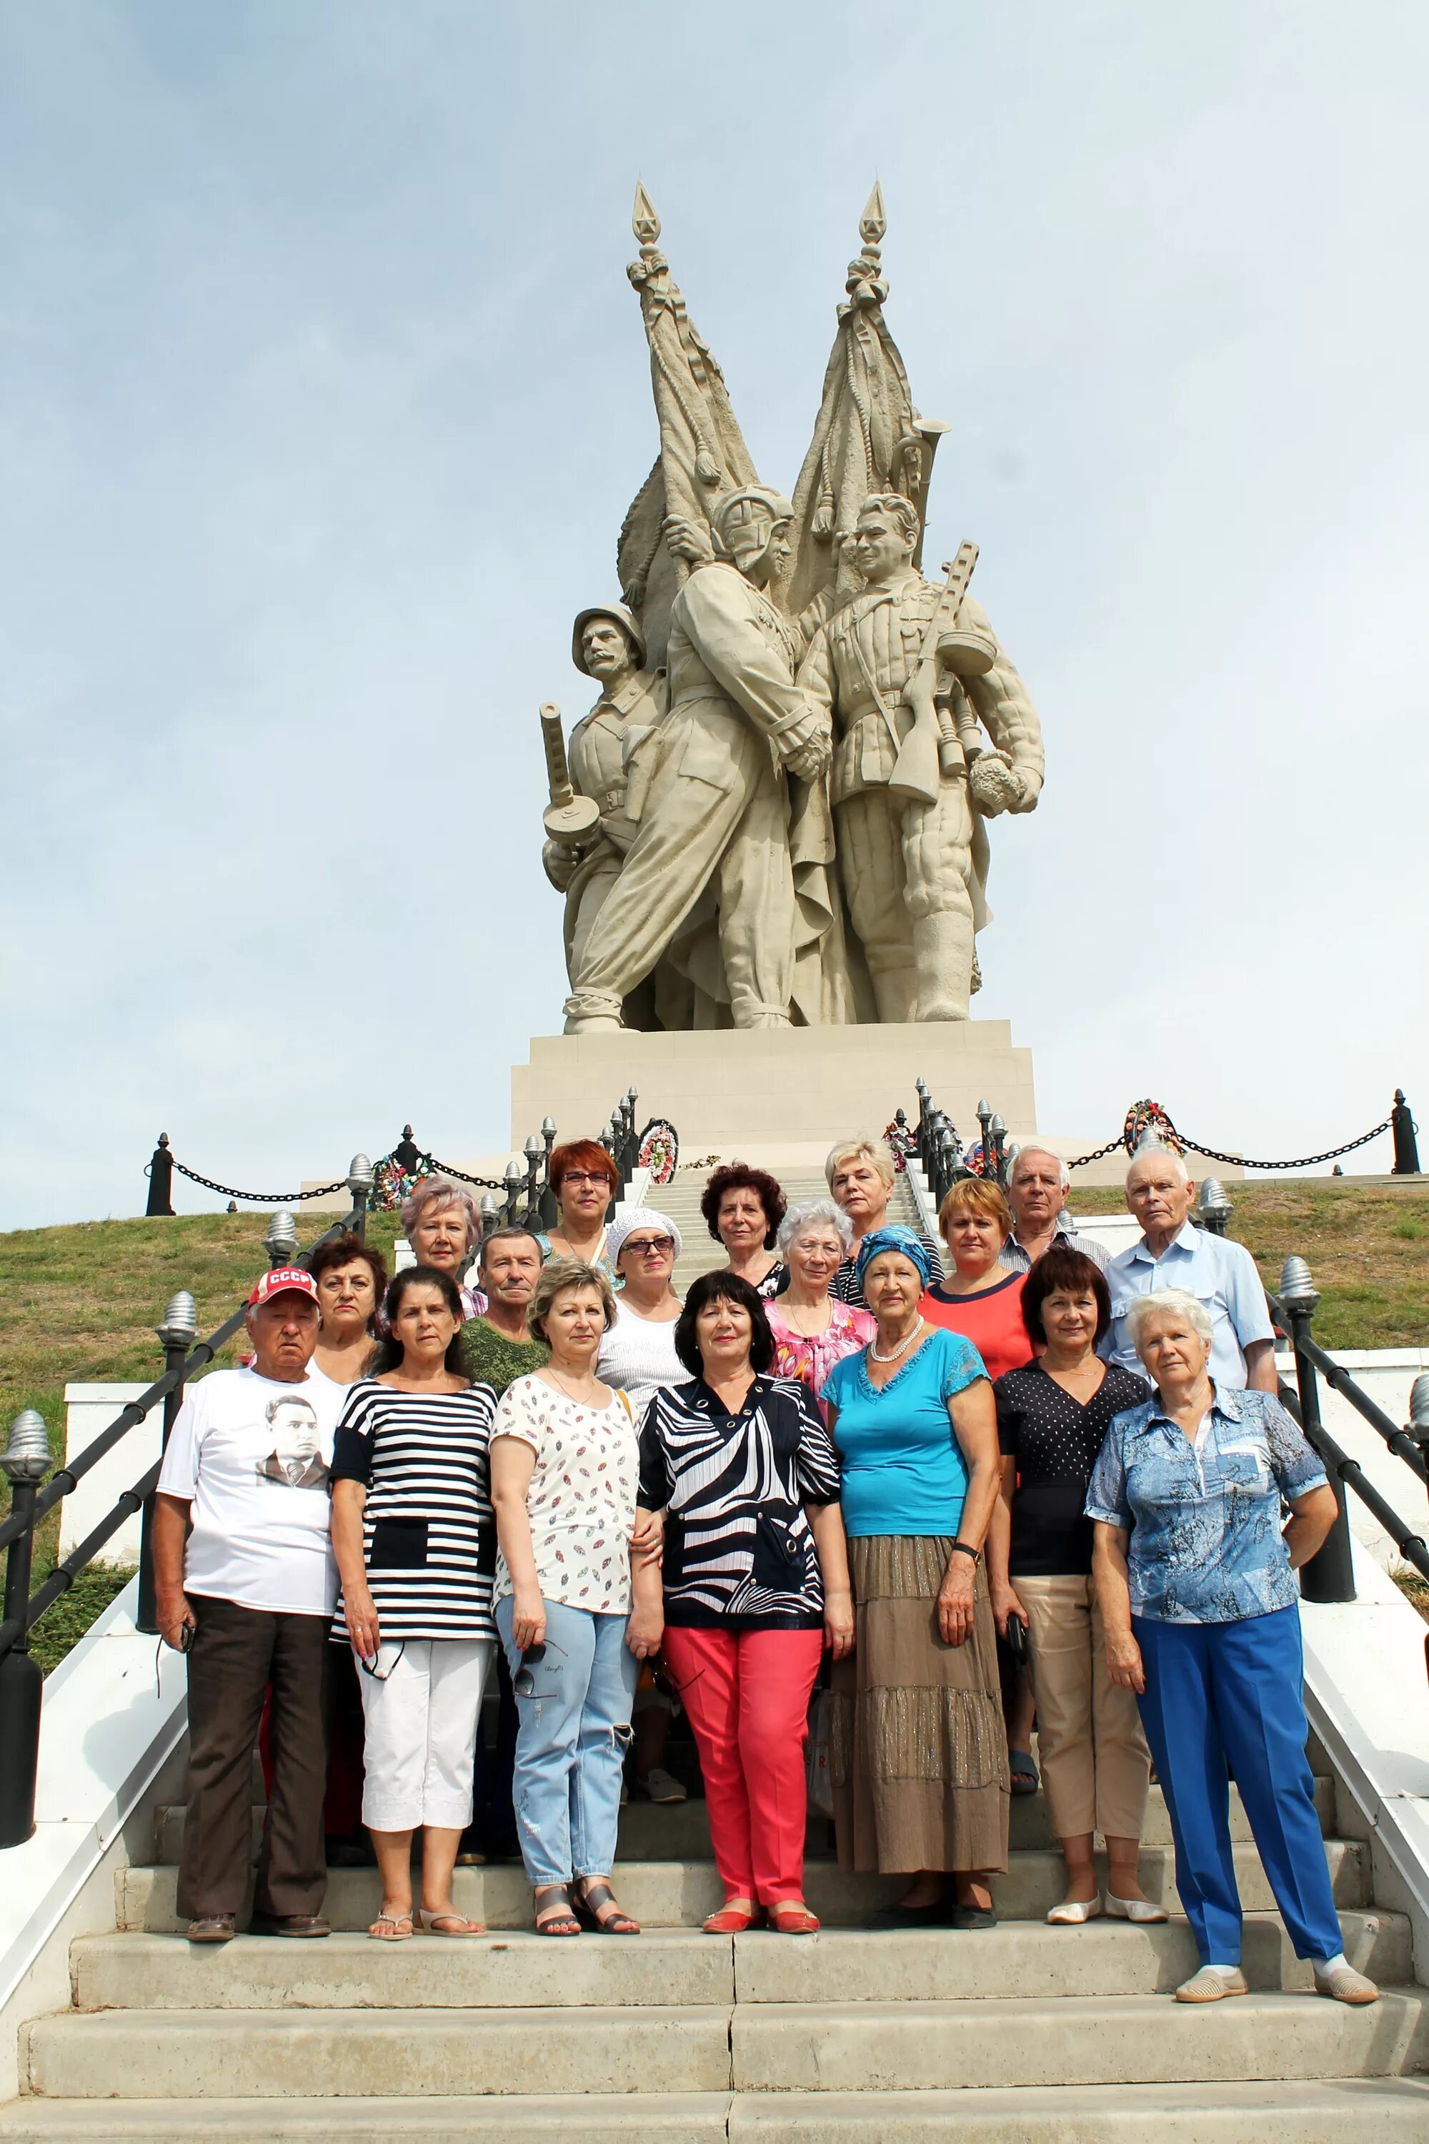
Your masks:
M737 1274L705 1274L675 1327L690 1385L656 1391L641 1434L641 1518L664 1512L664 1574L636 1567L690 1715L724 1882L711 1934L812 1934L803 1904L803 1741L825 1642L853 1640L853 1595L829 1432L808 1389L769 1376L765 1306Z

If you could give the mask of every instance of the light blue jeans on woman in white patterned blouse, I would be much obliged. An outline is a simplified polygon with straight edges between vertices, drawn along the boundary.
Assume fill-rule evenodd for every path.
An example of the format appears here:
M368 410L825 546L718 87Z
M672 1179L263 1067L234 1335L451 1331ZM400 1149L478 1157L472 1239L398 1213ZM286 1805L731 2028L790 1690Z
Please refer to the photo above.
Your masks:
M508 1593L497 1629L514 1681L512 1614ZM516 1831L531 1885L611 1874L638 1672L623 1614L546 1602L546 1655L531 1696L516 1698Z

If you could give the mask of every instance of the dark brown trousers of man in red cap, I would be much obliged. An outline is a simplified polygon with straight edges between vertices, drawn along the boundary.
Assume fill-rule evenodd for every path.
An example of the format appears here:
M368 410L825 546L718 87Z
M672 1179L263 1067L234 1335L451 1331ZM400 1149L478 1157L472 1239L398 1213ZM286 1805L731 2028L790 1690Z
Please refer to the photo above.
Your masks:
M178 1915L242 1912L253 1850L253 1752L272 1692L272 1786L257 1861L255 1912L319 1912L324 1861L326 1614L266 1614L191 1593L189 1816Z

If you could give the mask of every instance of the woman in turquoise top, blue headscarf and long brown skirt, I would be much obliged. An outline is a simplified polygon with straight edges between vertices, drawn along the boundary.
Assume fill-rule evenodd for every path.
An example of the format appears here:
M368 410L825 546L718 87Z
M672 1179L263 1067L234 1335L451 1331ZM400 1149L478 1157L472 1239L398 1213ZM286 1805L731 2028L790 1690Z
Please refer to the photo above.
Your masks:
M823 1387L844 1466L855 1653L833 1668L840 1867L913 1874L900 1925L992 1927L1007 1867L1007 1734L983 1539L998 1492L977 1349L919 1312L928 1246L878 1229L859 1282L878 1331ZM947 1876L953 1900L947 1900Z

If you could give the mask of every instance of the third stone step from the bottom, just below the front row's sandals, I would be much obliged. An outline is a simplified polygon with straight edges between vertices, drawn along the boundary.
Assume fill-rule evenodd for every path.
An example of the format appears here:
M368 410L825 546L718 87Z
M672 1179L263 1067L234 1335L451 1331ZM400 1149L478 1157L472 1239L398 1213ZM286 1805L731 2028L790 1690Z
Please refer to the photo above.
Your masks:
M1410 1923L1390 1912L1341 1915L1345 1953L1360 1972L1393 1985L1414 1972ZM1046 1927L823 1930L791 1940L765 1930L703 1936L647 1932L638 1940L555 1942L536 1934L371 1942L234 1942L189 1949L176 1936L81 1936L71 1945L75 2007L101 2009L476 2009L574 2007L583 2002L949 2002L996 1996L1170 1994L1195 1970L1183 1917L1155 1927L1093 1921ZM1245 1923L1245 1972L1253 1987L1309 1990L1277 1915Z

